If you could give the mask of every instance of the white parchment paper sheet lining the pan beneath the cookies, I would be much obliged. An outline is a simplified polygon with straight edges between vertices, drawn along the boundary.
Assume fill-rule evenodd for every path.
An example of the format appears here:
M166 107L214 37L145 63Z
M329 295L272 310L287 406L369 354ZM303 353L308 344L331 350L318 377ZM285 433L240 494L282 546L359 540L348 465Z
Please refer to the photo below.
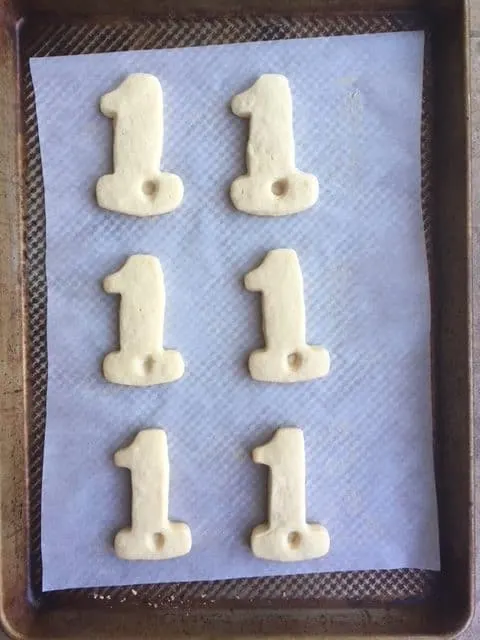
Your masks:
M432 465L429 290L420 204L423 34L398 33L33 59L47 215L47 432L44 589L416 567L438 569ZM100 97L132 72L160 79L162 165L185 199L172 214L102 211L112 122ZM296 162L318 203L283 219L236 212L247 122L231 97L262 73L285 74ZM305 280L307 337L332 356L326 380L252 381L262 344L259 296L244 274L291 247ZM108 384L118 298L105 275L133 253L165 273L165 346L185 377L148 389ZM266 518L265 467L251 449L280 425L304 429L307 511L329 529L323 559L264 562L249 552ZM115 558L130 521L129 473L112 455L138 429L168 432L172 519L191 553L168 562Z

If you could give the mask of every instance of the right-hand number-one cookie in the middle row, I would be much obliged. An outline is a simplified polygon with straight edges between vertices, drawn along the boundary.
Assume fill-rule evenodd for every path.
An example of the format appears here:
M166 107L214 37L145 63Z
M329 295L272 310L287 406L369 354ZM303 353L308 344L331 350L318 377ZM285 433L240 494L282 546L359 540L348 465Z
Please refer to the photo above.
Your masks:
M249 291L262 292L265 349L250 354L255 380L301 382L326 376L330 355L305 338L303 277L292 249L269 251L262 264L245 276Z

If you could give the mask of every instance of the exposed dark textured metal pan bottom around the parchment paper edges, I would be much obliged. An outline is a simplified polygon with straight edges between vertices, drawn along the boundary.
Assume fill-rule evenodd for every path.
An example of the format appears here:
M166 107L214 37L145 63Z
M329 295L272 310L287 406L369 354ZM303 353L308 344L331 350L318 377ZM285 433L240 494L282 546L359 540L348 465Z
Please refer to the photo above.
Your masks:
M45 209L40 148L33 86L28 59L33 56L73 55L133 49L185 47L312 36L353 35L425 28L415 15L379 15L339 18L217 18L212 20L144 20L114 24L36 25L24 43L23 91L26 158L26 263L29 313L30 372L30 553L33 592L41 594L40 500L43 440L46 419L46 304ZM422 204L432 274L432 79L430 37L426 30L422 120ZM432 278L433 281L433 278ZM403 569L357 573L243 579L215 582L105 587L52 592L42 601L61 605L95 599L114 603L144 603L150 607L292 606L318 607L346 602L387 603L424 599L433 595L439 576L433 572Z

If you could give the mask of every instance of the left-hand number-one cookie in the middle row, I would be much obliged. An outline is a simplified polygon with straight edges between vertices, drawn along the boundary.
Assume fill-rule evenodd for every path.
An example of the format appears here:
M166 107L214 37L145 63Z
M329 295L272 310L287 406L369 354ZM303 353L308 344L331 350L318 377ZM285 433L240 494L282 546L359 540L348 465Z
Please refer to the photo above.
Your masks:
M120 351L103 361L109 382L145 387L173 382L185 365L178 351L163 348L165 286L162 266L154 256L130 256L103 281L107 293L119 293Z

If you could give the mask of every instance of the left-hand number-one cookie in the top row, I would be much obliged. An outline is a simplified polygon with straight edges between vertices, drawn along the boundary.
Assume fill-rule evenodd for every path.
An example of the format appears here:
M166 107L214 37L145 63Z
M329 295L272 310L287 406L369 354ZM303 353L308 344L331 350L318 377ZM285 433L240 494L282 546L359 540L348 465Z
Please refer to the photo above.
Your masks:
M173 211L183 198L183 183L159 170L163 148L163 94L148 73L129 75L105 94L100 110L113 118L113 173L97 182L104 209L132 216Z

